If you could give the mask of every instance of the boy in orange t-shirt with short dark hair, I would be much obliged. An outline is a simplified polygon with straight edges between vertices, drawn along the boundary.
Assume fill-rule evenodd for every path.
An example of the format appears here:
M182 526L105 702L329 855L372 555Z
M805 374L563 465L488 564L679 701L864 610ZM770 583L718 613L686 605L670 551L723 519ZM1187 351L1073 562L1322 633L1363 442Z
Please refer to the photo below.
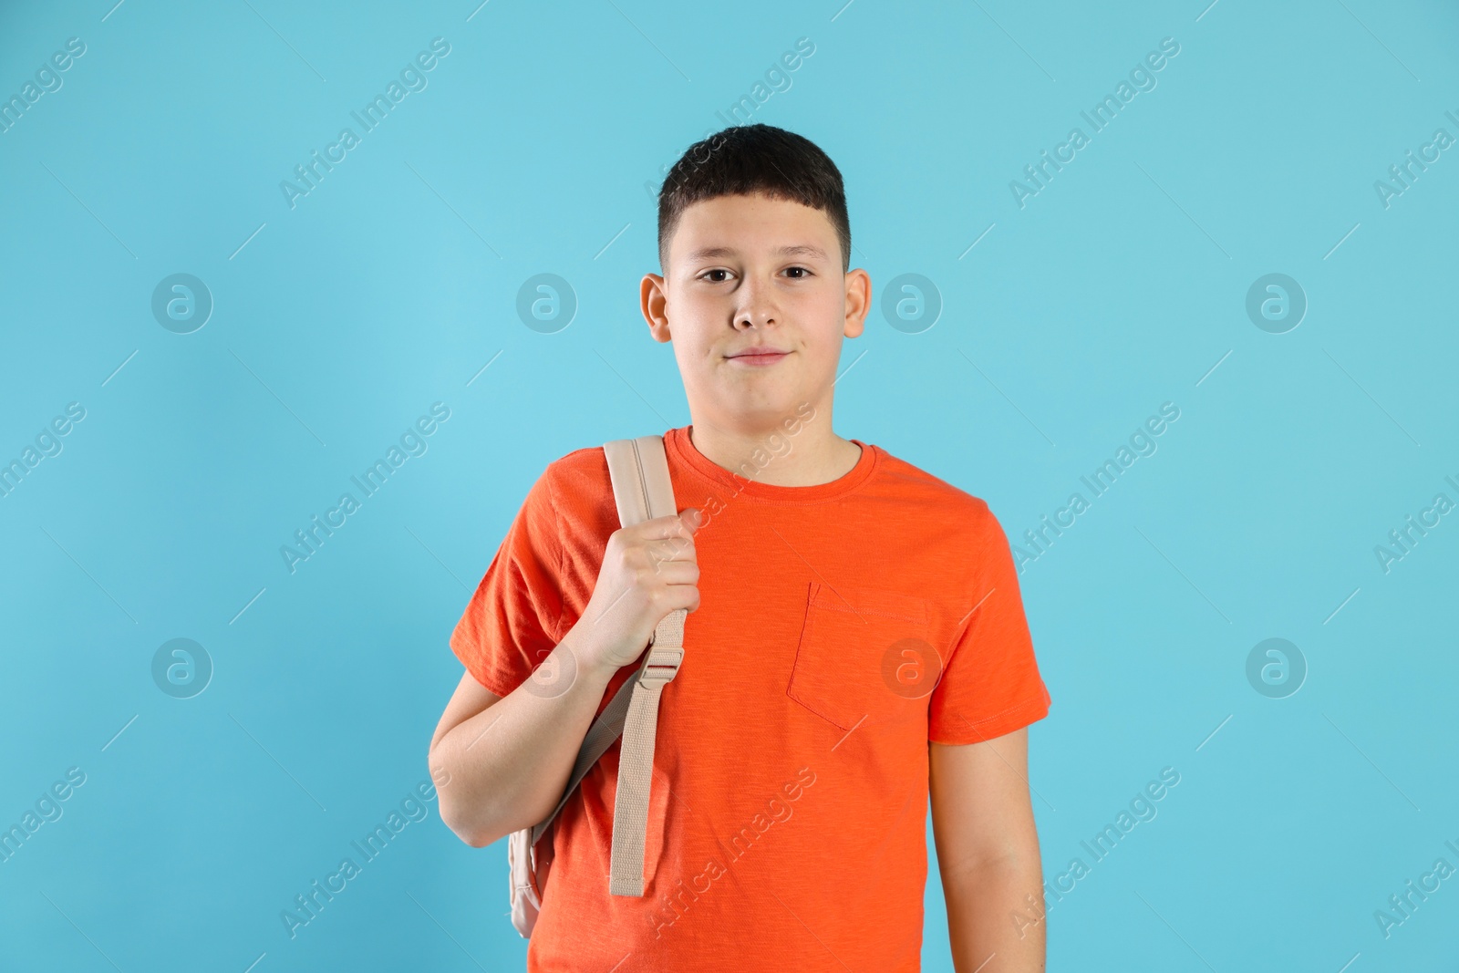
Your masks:
M1042 970L1026 726L1049 696L988 505L832 430L871 308L840 172L728 128L668 174L658 244L641 303L689 400L664 433L684 509L620 528L601 446L547 465L451 636L442 820L473 848L543 820L686 608L645 894L608 894L614 744L556 820L527 969L918 970L931 796L956 969Z

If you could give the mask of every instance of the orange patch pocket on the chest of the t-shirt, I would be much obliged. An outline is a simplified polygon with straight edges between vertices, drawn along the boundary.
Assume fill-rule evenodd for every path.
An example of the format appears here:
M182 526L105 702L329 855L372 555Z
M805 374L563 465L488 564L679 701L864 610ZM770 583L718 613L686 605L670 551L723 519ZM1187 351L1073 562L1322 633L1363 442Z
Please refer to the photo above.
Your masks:
M925 598L813 581L786 696L846 731L925 713L940 675L926 633Z

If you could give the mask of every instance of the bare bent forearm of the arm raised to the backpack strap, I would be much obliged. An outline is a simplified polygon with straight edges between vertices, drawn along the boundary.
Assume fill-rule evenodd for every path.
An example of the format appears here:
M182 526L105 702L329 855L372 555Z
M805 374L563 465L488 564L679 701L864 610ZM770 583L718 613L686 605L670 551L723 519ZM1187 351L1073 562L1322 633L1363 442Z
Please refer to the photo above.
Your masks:
M438 788L441 820L468 845L490 845L557 807L616 671L587 665L572 642L569 632L543 662L559 667L566 689L528 680L451 728L430 753L433 776L446 780Z

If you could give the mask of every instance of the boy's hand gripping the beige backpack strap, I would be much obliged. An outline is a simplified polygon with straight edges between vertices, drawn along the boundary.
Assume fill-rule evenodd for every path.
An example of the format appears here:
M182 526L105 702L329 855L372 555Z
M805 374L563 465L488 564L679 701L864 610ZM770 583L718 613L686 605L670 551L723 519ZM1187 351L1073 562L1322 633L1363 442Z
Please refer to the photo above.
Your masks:
M642 655L668 613L699 607L694 531L702 524L689 508L613 531L588 607L563 639L579 665L611 675Z

